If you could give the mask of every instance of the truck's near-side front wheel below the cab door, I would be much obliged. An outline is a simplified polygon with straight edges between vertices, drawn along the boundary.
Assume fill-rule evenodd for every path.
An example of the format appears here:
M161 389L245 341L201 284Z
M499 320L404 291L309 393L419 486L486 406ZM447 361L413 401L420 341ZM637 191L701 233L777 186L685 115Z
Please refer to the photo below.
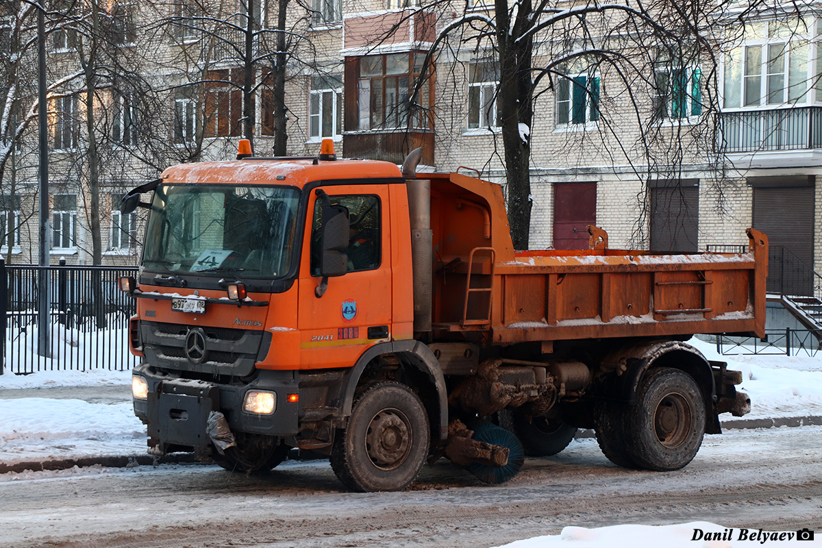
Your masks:
M417 394L396 382L377 383L354 401L348 427L337 431L331 467L351 490L403 490L422 470L430 439Z

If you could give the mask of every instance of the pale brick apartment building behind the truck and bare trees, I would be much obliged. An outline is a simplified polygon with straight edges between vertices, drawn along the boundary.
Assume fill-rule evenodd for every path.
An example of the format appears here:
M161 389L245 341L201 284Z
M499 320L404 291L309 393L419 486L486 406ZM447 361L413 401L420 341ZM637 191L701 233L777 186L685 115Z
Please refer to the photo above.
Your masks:
M321 139L330 137L338 154L399 163L422 146L427 166L477 169L505 184L499 63L487 41L463 39L481 33L478 25L469 30L455 25L461 19L493 19L488 2L313 0L310 11L289 5L285 25L278 21L279 2L248 2L105 5L114 44L143 53L139 70L157 99L155 110L141 110L137 91L121 93L114 85L96 103L109 120L107 141L126 157L101 186L105 263L136 260L141 223L133 214L118 214L118 196L129 184L156 177L163 161L230 158L247 113L253 117L256 153L270 154L277 123L269 85L277 29L295 37L285 71L288 154L316 154ZM592 56L569 58L548 71L534 89L534 119L524 137L532 166L530 246L586 246L584 226L595 223L610 234L612 246L703 251L745 245L745 228L754 226L769 233L773 245L822 270L822 223L815 208L822 203L815 182L822 168L822 86L816 85L822 19L811 7L790 9L746 12L741 28L732 23L731 9L717 19L718 27L728 29L722 36L730 38L723 38L727 47L716 48L713 59L683 62L655 53L651 76L635 84L626 85L624 76L618 78ZM256 25L250 110L242 91L249 12ZM459 38L446 47L438 39L449 28ZM49 40L50 62L62 60L63 70L71 71L72 30L57 25ZM436 56L427 58L435 42ZM538 41L534 66L573 49L569 42ZM84 96L76 90L55 92L50 103L57 160L83 150L87 136L81 123ZM151 124L145 123L146 113ZM705 129L697 133L700 124ZM672 136L683 136L678 154L640 150L637 143L649 127L662 136L657 150L668 145L666 154L673 150ZM25 136L24 149L36 142L31 130ZM144 152L136 153L145 149L145 139L155 141L150 162ZM159 140L164 145L157 145ZM724 153L730 162L720 161ZM36 220L26 212L36 210L30 191L36 173L30 166L19 168L21 191L7 196L9 165L0 220L7 226L9 216L25 218L12 255L27 262L35 258ZM73 250L67 259L87 264L91 213L76 169L56 161L53 180L76 177L78 184L69 181L50 198L52 246L56 255Z

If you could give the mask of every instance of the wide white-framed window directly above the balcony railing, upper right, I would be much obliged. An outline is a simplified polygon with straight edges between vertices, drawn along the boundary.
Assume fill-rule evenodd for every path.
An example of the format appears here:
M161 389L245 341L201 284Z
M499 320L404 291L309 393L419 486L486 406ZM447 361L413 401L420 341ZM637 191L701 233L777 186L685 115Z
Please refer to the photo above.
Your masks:
M806 103L813 25L799 19L757 21L725 59L725 108Z

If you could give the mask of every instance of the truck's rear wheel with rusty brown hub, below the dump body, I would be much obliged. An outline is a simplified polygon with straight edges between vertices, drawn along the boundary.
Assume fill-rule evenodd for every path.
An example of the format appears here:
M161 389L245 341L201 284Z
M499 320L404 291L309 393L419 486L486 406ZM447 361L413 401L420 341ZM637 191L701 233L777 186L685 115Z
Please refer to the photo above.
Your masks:
M645 374L638 398L626 413L631 458L659 472L685 467L705 433L705 404L696 381L684 371L659 367Z

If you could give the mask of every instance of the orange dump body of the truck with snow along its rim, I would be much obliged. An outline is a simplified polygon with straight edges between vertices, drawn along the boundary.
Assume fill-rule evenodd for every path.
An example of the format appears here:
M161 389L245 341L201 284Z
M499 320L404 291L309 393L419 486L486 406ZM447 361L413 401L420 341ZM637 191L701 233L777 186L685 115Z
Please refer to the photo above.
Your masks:
M501 187L432 175L433 327L441 336L484 331L506 344L764 335L762 233L750 230L751 251L741 254L612 250L595 227L588 250L514 252L505 215Z

